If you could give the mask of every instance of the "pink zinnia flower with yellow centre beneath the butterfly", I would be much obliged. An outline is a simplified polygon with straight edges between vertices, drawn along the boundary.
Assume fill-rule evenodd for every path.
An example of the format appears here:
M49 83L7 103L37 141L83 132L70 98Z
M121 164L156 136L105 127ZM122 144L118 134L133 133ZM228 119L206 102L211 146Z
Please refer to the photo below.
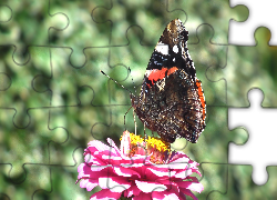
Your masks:
M161 139L143 138L123 132L121 149L113 140L110 146L93 140L84 151L84 163L78 168L81 188L91 191L96 186L101 191L92 199L133 200L197 199L193 191L202 192L203 186L192 173L201 172L198 163L184 152L170 151L170 144Z

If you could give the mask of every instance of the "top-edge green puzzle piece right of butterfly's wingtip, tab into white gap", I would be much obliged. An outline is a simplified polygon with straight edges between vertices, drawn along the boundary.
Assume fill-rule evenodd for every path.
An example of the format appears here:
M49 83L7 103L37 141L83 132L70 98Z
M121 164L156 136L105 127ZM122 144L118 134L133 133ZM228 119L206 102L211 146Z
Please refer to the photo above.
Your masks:
M245 6L229 7L228 0L213 0L203 2L196 1L168 1L168 11L183 10L187 20L185 26L193 30L202 23L207 23L214 28L215 34L212 38L214 43L228 43L228 22L230 19L245 21L248 17L248 8ZM197 11L196 11L197 10ZM207 14L211 13L211 14ZM195 26L197 24L197 26Z

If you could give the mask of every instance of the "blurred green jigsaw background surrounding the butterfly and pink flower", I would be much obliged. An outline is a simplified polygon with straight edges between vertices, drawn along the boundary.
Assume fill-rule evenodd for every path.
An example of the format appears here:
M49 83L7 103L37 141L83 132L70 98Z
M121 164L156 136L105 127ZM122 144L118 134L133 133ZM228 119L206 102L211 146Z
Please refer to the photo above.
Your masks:
M189 31L188 51L207 102L206 129L198 142L178 139L172 144L199 163L202 177L196 177L204 190L195 196L276 199L276 162L265 156L273 149L268 144L263 150L274 141L274 131L247 127L238 120L243 111L234 121L229 116L233 109L250 109L254 101L247 94L253 88L263 91L263 108L277 106L277 48L268 44L275 44L276 31L264 19L248 30L247 41L256 43L239 43L242 27L257 8L235 4L239 2L1 1L0 199L90 199L101 190L75 184L84 149L92 140L106 143L106 138L120 147L122 132L135 131L127 90L140 93L153 49L176 18ZM234 28L234 36L230 20L242 24ZM143 136L143 123L137 118L136 123ZM252 142L260 137L267 138ZM255 146L256 151L248 153L256 154L260 173L249 166L252 160L240 157L246 151L237 146L247 142ZM266 170L268 179L258 182Z

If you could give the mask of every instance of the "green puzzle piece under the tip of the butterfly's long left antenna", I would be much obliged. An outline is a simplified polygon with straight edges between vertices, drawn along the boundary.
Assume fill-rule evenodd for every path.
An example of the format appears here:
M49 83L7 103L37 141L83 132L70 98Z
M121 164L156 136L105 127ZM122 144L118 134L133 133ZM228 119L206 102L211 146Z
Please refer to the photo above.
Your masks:
M52 107L80 106L82 104L80 98L85 102L89 102L91 106L98 107L126 104L126 102L131 104L130 101L126 101L119 93L115 93L113 88L106 89L104 87L109 79L104 77L100 70L105 71L112 77L113 74L116 74L117 77L121 77L121 79L126 79L129 74L126 68L116 67L110 70L107 62L104 60L105 57L109 56L107 48L86 49L85 53L90 61L81 68L73 68L70 66L68 60L72 52L70 49L53 48L51 49L51 52L53 76L50 81L50 89L52 91ZM114 78L120 80L116 77ZM113 86L116 83L113 83ZM123 92L129 96L127 91L124 91L124 89Z

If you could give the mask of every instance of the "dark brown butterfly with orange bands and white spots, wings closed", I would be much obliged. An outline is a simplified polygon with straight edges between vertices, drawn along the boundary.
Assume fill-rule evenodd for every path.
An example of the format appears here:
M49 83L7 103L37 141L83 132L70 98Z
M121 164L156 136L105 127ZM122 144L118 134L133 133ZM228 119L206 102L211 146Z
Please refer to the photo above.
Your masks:
M187 40L182 21L171 21L152 53L140 97L131 93L140 120L171 143L176 138L196 143L205 129L206 102Z

